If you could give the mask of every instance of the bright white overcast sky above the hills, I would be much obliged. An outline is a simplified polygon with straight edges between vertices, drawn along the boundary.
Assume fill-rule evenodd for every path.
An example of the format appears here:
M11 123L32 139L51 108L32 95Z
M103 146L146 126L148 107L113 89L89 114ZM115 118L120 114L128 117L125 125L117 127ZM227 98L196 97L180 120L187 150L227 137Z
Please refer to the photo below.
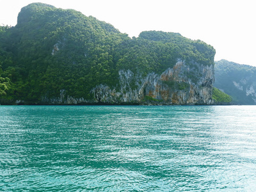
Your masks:
M212 45L216 61L256 67L254 0L0 0L0 24L15 26L20 9L34 2L92 15L131 37L149 30L180 33Z

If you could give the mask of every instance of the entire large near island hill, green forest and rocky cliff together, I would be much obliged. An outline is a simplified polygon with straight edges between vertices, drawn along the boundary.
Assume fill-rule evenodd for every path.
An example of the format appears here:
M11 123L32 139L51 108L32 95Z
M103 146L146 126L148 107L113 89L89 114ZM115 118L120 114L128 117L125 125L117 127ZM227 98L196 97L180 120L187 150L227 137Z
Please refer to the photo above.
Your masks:
M179 33L129 38L42 3L0 28L1 104L213 104L215 50Z

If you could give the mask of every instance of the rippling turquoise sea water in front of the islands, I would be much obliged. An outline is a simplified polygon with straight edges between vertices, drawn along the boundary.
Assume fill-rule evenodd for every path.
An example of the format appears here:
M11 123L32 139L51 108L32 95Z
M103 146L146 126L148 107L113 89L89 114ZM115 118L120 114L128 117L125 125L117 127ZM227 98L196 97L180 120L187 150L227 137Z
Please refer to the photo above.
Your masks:
M0 106L0 191L255 191L256 106Z

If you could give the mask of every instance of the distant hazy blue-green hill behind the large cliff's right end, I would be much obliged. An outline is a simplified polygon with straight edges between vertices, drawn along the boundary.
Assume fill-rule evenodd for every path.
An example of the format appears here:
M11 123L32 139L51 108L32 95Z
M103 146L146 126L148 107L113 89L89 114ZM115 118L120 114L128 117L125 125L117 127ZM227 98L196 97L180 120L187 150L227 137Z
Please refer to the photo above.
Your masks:
M214 86L232 96L235 104L256 104L256 67L216 61Z

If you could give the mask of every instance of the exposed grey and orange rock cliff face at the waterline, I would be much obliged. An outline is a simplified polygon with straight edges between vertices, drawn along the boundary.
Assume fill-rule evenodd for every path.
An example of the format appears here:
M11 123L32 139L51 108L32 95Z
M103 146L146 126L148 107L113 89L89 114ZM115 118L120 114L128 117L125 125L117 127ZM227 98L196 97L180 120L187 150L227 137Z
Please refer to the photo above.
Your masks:
M198 74L190 79L188 74ZM142 77L131 70L119 71L119 84L115 88L99 84L91 90L92 100L73 98L61 90L60 97L42 98L51 104L213 104L212 83L213 65L194 63L193 67L185 61L178 61L173 68L167 68L161 75L154 72Z

